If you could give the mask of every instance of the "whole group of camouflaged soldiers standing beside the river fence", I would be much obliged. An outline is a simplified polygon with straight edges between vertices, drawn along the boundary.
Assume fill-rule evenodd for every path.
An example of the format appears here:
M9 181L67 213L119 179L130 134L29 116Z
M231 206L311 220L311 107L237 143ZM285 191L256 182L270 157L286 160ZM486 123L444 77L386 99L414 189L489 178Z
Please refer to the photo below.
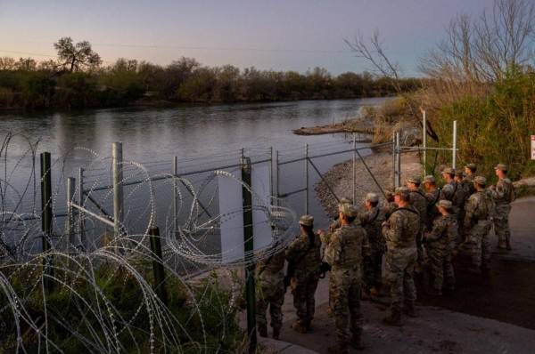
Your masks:
M452 257L459 249L470 254L469 271L488 271L493 224L498 248L504 252L511 249L508 214L514 188L506 165L498 164L495 171L498 182L489 188L484 177L476 176L476 166L468 164L464 173L445 168L441 189L432 175L424 177L423 186L421 178L414 176L407 179L406 186L386 192L381 205L375 193L366 195L363 209L344 198L328 231L315 232L314 218L301 216L300 235L292 244L257 265L259 334L268 336L269 308L273 337L278 339L287 286L292 288L297 314L292 328L308 333L317 283L327 270L337 339L330 353L363 348L361 298L373 298L390 289L391 311L383 322L401 326L402 315L416 317L414 277L424 263L430 266L432 295L455 289ZM286 275L284 261L288 261Z

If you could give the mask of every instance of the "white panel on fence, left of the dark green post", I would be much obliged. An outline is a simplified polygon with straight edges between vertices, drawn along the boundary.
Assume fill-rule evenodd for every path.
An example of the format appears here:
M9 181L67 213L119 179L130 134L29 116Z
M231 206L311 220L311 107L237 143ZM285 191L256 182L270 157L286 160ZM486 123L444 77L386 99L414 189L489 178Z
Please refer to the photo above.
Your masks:
M232 172L242 179L242 171ZM223 263L243 260L242 185L232 178L218 176L219 213L232 213L221 220L221 253Z

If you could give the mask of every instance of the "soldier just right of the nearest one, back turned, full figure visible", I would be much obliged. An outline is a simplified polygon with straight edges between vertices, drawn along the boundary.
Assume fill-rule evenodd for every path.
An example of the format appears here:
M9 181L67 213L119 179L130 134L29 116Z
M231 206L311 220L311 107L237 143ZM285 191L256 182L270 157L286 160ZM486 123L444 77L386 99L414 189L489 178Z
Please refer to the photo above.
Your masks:
M416 287L414 269L417 259L416 237L420 232L420 216L409 204L408 189L396 189L395 202L399 205L388 221L383 222L386 241L385 279L391 287L391 315L384 322L401 326L401 307L405 313L416 317Z

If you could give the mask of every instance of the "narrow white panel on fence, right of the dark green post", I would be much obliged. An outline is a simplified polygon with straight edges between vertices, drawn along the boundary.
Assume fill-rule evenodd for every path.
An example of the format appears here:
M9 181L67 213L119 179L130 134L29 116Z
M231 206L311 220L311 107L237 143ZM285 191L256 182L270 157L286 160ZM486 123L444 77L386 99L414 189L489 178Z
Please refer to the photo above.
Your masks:
M252 165L251 184L252 190L260 200L252 202L253 205L271 205L271 171L270 162ZM268 210L255 209L252 212L252 224L254 235L254 249L266 247L271 244L273 233L268 218Z

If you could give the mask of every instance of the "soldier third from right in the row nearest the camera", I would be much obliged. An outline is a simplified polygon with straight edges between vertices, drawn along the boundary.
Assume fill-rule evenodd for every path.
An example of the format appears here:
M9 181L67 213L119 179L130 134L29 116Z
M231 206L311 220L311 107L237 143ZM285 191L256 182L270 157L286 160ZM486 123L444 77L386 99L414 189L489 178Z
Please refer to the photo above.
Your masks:
M451 253L452 243L457 240L457 219L451 214L453 205L449 200L440 200L436 206L440 216L433 221L431 232L425 234L425 246L431 261L433 278L430 294L440 296L444 280L447 290L455 289Z

